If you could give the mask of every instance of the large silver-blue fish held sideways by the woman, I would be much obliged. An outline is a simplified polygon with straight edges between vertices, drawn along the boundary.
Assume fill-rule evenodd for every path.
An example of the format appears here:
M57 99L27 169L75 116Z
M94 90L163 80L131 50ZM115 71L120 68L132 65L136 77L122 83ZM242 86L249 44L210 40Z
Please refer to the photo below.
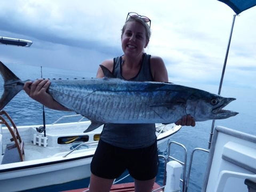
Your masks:
M188 114L199 122L238 114L222 110L235 98L172 83L109 78L110 71L101 68L104 78L52 79L47 90L61 105L91 120L86 132L104 123L174 123ZM4 79L2 110L26 81L21 81L1 61L0 73Z

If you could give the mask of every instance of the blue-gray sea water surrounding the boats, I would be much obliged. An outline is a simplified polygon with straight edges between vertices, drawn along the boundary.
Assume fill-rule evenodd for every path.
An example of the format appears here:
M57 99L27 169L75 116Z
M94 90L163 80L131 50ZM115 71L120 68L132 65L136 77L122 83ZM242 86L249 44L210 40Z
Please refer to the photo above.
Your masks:
M15 75L20 79L36 79L41 77L41 68L34 66L21 66L14 65L13 63L5 63ZM83 71L70 71L62 69L52 69L43 68L44 78L82 78L82 77L94 77L94 74L86 74ZM219 85L206 85L206 84L191 84L191 83L179 83L185 86L195 87L212 93L218 92ZM251 82L249 82L251 83ZM215 125L222 125L235 129L238 131L243 131L245 133L256 135L256 123L255 113L256 113L256 90L253 88L248 88L238 86L225 86L225 79L222 87L221 95L223 97L234 97L236 101L231 102L226 109L234 110L239 112L235 117L230 117L228 119L222 119L215 122ZM3 79L0 80L0 94L3 93ZM32 99L30 99L24 91L21 91L16 95L11 102L4 108L10 116L13 118L16 125L31 125L31 124L43 124L42 118L42 105ZM73 112L57 111L45 108L46 124L53 123L56 119L63 115L74 115ZM63 122L77 121L76 118L69 118ZM207 149L208 141L210 137L212 121L197 122L195 127L183 126L182 129L172 135L169 141L166 141L161 146L158 147L158 153L167 156L167 145L170 141L177 141L186 146L188 150L188 162L190 158L191 151L196 148ZM47 130L46 130L47 132ZM171 155L183 159L183 151L173 146L171 148ZM190 182L188 186L188 191L201 191L201 186L204 180L204 172L207 164L208 154L202 153L200 151L195 153ZM157 175L156 182L159 185L163 185L163 175L164 175L164 161L159 159L159 171ZM125 175L124 173L123 175ZM127 178L122 182L131 182L132 178ZM33 189L29 191L61 191L68 189L84 188L89 184L89 179L84 179L80 181L70 182L62 185L50 186L45 188Z

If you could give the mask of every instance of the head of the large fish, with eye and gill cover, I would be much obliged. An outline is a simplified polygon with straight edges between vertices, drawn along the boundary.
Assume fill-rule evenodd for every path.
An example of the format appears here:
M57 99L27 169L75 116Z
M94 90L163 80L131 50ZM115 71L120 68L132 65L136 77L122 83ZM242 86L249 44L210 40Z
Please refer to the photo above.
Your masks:
M186 113L193 116L195 121L225 119L238 114L235 111L223 109L228 103L236 100L235 98L224 98L208 92L198 96L191 95L186 106Z

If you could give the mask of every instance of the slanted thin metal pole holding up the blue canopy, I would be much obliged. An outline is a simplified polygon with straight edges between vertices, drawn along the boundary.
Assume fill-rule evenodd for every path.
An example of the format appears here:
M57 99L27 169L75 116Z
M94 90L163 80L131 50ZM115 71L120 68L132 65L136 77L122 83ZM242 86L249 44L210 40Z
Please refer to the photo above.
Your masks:
M234 24L235 24L235 19L236 19L236 14L233 15L233 22L232 22L232 26L231 26L230 35L229 35L229 41L228 41L228 47L227 47L227 51L226 51L226 56L225 56L225 60L224 60L224 63L223 63L223 69L222 69L222 75L221 75L221 79L220 79L220 85L219 85L218 94L220 94L221 88L222 88L222 82L223 82L223 78L224 78L224 74L225 74L225 69L226 69L226 65L227 65L228 52L229 52L231 37L232 37L233 28L234 28ZM209 139L209 141L208 141L208 149L211 148L212 135L213 135L213 130L214 130L214 124L215 124L215 120L213 119L213 121L212 121L212 127L211 127L211 132L210 132L210 139Z

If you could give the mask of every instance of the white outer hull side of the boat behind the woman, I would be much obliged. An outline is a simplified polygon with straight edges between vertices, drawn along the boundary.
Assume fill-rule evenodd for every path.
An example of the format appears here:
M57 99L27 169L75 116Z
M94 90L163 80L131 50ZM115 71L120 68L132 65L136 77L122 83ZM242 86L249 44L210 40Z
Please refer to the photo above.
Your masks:
M90 177L92 157L49 165L35 165L1 173L2 191L20 191L50 186Z

